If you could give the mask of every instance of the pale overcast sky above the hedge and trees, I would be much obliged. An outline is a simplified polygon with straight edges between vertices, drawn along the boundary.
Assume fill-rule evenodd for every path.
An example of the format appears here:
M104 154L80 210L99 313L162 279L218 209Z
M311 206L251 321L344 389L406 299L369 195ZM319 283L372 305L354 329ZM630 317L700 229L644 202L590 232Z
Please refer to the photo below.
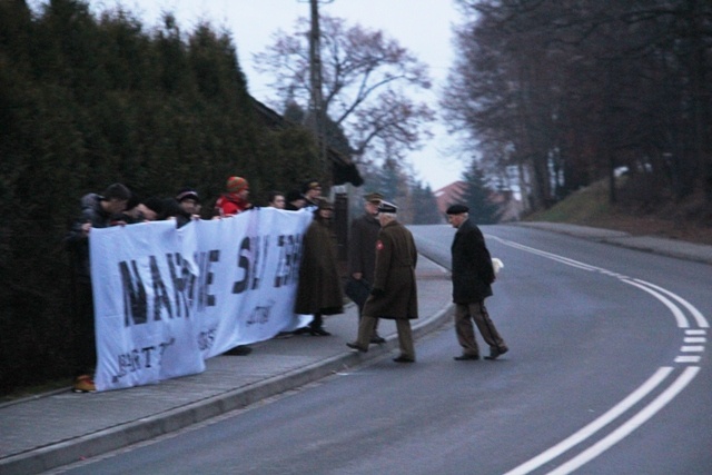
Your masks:
M299 17L309 16L307 0L90 0L95 11L125 6L142 19L145 27L159 23L162 11L176 14L184 30L191 31L202 20L231 32L238 60L247 76L250 95L268 102L275 95L266 86L269 80L255 71L253 55L271 43L271 36L281 29L291 32ZM383 30L395 38L418 59L429 66L434 79L432 107L443 88L452 63L452 24L458 23L452 0L333 0L322 1L322 14L346 19L368 29ZM408 157L419 180L433 190L461 178L464 162L455 156L454 138L445 128L434 126L435 137L418 152Z

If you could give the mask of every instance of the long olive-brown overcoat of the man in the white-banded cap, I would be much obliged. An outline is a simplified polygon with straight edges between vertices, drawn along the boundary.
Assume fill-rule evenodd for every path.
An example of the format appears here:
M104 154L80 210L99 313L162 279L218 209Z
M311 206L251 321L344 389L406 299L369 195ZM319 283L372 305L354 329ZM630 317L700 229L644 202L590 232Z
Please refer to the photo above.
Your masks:
M413 235L398 221L390 221L378 232L374 289L364 305L364 315L387 319L418 317L415 266L418 254Z

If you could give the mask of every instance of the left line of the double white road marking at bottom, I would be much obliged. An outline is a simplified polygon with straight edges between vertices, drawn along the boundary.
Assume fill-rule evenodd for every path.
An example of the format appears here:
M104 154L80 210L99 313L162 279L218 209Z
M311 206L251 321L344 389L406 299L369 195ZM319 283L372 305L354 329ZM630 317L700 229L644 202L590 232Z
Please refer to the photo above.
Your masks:
M554 445L545 452L542 452L536 457L523 463L522 465L511 469L505 475L524 475L527 474L545 463L558 457L564 452L568 451L571 447L581 444L586 438L591 437L596 432L601 431L603 427L612 423L616 417L621 414L625 413L627 409L633 407L633 405L637 404L643 397L650 394L655 387L657 387L663 379L665 379L670 373L672 373L673 368L670 366L663 366L659 368L653 376L651 376L645 383L643 383L637 389L627 395L625 399L621 400L619 404L609 409L601 417L586 425L575 434L568 436L564 441Z

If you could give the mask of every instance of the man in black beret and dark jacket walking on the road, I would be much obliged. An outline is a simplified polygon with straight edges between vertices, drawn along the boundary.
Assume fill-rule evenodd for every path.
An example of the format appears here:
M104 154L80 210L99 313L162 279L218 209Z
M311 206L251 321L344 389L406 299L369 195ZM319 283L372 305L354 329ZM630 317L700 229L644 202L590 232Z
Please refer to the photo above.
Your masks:
M485 298L492 296L495 275L492 257L479 228L469 220L469 208L452 205L447 219L457 229L452 245L453 301L455 303L455 334L463 348L455 360L479 359L479 349L472 320L475 320L483 339L490 345L490 356L496 359L510 349L490 319Z

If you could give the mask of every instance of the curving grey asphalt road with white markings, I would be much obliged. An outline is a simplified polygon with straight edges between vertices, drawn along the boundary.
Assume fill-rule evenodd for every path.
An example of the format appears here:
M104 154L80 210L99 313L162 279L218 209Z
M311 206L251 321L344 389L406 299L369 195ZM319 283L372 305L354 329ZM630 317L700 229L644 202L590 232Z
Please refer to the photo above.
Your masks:
M448 267L454 230L412 229ZM415 365L377 360L67 473L712 473L712 267L483 230L505 266L487 300L502 359L454 362L448 325Z

